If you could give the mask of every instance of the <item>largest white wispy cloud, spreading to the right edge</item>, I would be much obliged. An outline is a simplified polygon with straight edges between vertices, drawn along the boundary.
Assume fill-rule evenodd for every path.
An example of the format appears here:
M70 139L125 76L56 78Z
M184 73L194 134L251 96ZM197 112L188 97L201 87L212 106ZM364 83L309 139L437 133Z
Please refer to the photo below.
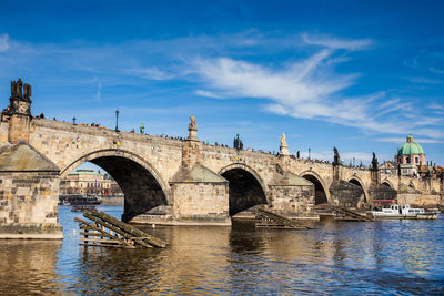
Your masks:
M341 91L355 83L357 74L340 75L332 71L325 63L331 55L331 51L321 51L274 69L230 58L198 59L192 67L212 92L271 101L263 110L275 114L316 119L373 133L416 131L426 136L444 136L434 129L423 129L438 124L441 118L420 116L412 103L401 98L390 99L384 92L359 98L341 95ZM405 118L398 111L408 111L417 119Z

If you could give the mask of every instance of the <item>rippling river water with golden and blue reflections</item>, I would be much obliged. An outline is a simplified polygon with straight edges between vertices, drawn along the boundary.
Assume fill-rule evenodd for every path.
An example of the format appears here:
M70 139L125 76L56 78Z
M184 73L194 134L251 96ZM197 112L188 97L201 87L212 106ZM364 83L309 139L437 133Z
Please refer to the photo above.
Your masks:
M100 206L115 217L122 207ZM311 231L144 228L165 249L79 246L69 206L63 242L0 241L8 294L444 294L444 216L373 223L322 220Z

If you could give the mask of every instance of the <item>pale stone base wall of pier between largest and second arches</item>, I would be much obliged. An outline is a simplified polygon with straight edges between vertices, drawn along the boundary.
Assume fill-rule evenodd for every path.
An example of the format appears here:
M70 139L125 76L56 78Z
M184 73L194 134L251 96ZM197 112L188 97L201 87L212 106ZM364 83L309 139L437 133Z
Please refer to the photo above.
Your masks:
M226 183L175 183L171 191L175 220L229 223L229 187Z

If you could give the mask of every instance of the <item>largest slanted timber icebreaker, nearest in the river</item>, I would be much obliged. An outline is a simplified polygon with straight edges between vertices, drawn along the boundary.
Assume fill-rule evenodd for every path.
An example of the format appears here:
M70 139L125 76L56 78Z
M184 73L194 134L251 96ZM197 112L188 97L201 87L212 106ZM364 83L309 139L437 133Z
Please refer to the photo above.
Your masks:
M83 216L93 223L74 218L82 231L80 238L84 246L100 247L165 247L167 243L160 238L151 236L134 226L123 223L103 212L84 212Z

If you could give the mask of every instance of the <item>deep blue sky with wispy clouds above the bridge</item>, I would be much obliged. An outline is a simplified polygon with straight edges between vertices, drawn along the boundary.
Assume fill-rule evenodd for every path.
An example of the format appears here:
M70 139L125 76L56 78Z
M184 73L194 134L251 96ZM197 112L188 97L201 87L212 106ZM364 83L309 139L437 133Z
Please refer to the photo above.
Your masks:
M412 133L444 164L442 1L1 1L0 103L346 163Z

